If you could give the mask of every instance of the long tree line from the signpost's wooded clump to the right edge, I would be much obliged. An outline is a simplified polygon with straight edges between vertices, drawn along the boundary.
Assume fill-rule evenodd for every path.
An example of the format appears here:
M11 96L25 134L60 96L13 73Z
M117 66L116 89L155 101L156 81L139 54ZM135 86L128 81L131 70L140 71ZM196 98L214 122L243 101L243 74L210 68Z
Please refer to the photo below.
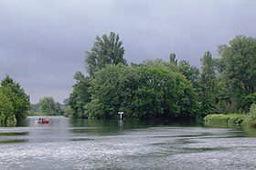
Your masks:
M169 61L128 65L119 35L96 36L85 53L87 73L76 72L66 114L89 119L195 118L247 113L256 102L256 39L238 35L200 59L201 69L176 54Z

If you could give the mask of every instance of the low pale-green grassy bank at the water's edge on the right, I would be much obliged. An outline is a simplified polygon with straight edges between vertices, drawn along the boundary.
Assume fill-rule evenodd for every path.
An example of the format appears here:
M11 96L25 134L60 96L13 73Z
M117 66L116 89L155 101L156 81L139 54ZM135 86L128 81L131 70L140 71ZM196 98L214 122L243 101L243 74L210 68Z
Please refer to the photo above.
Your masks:
M204 121L207 125L240 125L246 116L244 114L207 115Z

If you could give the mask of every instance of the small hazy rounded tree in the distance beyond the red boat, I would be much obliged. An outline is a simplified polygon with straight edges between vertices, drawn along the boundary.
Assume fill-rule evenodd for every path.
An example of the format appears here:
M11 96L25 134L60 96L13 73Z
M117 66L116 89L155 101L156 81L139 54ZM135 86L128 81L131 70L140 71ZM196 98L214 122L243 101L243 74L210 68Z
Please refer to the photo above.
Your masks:
M63 115L60 104L50 96L45 96L39 101L40 111L47 115Z

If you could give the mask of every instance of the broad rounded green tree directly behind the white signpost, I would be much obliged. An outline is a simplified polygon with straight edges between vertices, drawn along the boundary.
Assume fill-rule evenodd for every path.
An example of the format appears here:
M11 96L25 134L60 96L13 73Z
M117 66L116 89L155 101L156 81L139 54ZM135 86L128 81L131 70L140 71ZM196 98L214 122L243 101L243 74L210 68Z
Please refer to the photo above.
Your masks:
M99 70L90 81L88 117L113 119L119 111L126 113L124 117L139 119L196 116L198 102L192 84L162 64L157 60Z

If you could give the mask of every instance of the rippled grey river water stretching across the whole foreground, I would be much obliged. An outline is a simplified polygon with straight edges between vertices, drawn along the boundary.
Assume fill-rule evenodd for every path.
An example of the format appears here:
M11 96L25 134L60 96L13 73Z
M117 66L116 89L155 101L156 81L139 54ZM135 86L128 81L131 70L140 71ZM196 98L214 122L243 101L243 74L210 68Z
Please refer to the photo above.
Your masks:
M0 127L0 169L255 169L251 131L50 117Z

